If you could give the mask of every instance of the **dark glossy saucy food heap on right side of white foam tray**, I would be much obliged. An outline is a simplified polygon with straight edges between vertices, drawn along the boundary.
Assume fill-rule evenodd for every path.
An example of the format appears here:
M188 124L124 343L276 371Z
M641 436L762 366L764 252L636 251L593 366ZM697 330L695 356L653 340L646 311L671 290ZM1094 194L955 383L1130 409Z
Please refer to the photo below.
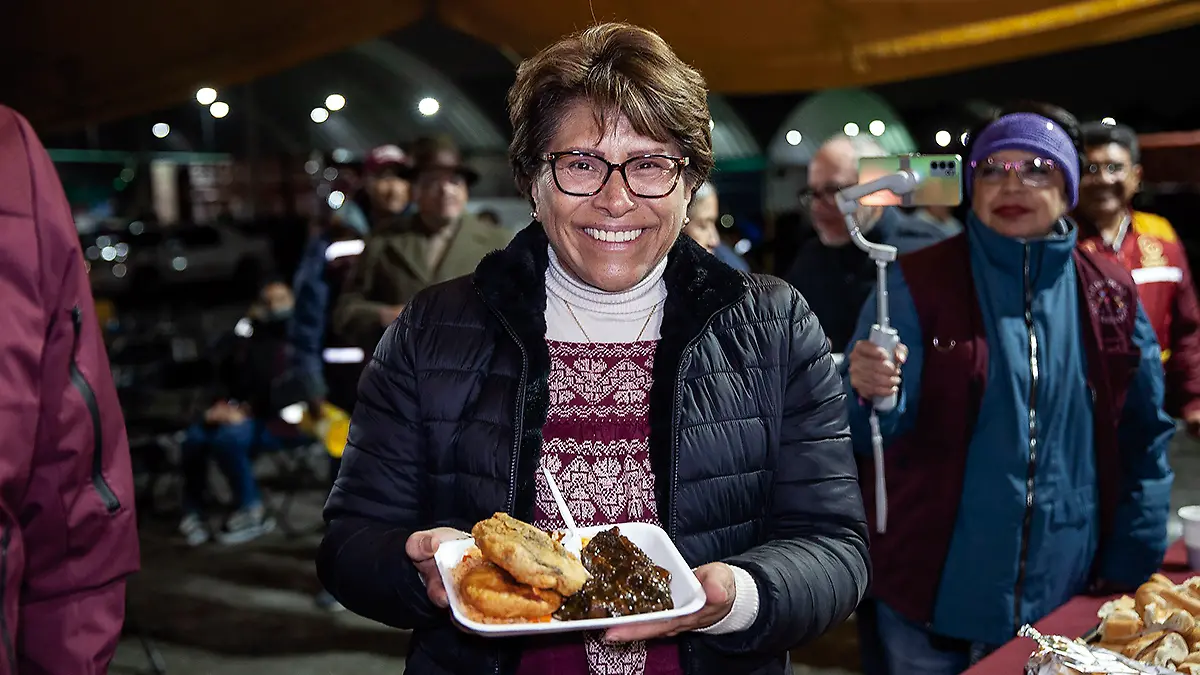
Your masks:
M671 573L612 527L583 548L592 579L554 613L559 621L606 619L674 609Z

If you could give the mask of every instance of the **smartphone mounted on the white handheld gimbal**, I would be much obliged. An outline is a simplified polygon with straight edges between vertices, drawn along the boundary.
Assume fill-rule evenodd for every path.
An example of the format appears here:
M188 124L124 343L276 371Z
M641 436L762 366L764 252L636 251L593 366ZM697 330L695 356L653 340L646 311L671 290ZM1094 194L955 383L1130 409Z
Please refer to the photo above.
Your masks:
M958 155L893 155L858 161L858 183L908 169L920 184L907 195L881 190L858 203L869 207L956 207L962 202L962 157Z

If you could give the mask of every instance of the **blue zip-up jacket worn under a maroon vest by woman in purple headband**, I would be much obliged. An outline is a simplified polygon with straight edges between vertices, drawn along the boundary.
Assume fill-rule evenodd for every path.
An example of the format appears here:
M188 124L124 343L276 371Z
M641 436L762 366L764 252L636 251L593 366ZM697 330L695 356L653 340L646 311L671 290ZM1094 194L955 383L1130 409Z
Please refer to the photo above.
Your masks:
M1118 440L1122 456L1138 458L1123 464L1122 489L1132 498L1121 501L1109 542L1111 550L1098 551L1092 399L1072 258L1076 233L1072 228L1066 235L1021 241L989 229L973 214L966 229L990 363L931 631L1000 645L1013 638L1014 626L1032 623L1082 592L1099 554L1100 577L1108 581L1134 586L1158 569L1166 548L1172 482L1166 447L1175 425L1163 412L1160 352L1139 304L1134 344L1141 350L1141 365L1129 386ZM1040 371L1034 394L1038 454L1033 520L1025 556L1021 615L1016 617L1014 596L1030 459L1026 247ZM912 429L917 419L925 348L899 265L889 269L888 291L892 324L910 356L902 368L900 404L880 416L884 447ZM856 341L868 338L875 313L872 293L847 353ZM853 393L847 401L856 450L869 455L870 404Z

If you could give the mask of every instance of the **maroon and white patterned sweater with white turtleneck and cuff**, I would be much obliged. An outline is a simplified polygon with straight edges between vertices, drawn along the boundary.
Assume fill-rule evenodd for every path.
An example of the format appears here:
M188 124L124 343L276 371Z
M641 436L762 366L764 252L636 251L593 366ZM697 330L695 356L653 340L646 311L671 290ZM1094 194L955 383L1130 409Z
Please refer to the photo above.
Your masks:
M664 258L632 287L606 292L575 279L548 249L546 342L550 407L540 464L546 466L582 526L659 522L649 460L649 392L667 291ZM563 527L539 467L534 524ZM758 614L750 573L732 567L730 614L697 633L745 631ZM674 675L674 640L607 645L601 635L527 638L520 675Z

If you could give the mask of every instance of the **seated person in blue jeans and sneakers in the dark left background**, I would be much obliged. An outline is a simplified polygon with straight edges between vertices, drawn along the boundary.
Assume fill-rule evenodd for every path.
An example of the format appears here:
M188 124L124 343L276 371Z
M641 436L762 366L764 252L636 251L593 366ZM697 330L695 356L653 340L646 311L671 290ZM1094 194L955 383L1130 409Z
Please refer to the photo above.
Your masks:
M292 307L287 285L268 283L221 350L217 359L221 395L184 440L184 519L179 531L190 545L200 545L210 538L203 510L210 459L216 460L236 500L236 508L217 533L217 540L240 544L275 527L263 508L252 459L254 453L280 449L286 442L271 394L287 368Z

